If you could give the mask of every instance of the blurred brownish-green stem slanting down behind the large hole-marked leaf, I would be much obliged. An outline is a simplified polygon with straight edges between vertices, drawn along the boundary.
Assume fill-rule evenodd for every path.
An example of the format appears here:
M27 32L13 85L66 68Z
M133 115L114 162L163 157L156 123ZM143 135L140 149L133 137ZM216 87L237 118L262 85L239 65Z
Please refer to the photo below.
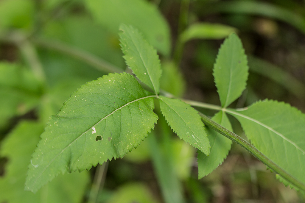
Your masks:
M112 65L111 63L89 53L79 48L66 45L59 41L47 41L47 40L34 40L34 43L38 46L53 49L59 52L62 52L66 55L70 55L75 59L84 61L99 71L104 71L107 73L120 73L123 70L118 68L117 66Z

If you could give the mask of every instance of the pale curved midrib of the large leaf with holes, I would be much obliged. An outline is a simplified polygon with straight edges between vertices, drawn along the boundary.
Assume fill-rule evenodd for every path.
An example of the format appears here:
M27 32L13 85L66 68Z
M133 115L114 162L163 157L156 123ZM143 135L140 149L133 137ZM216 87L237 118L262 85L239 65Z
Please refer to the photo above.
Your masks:
M107 117L111 116L113 113L115 113L116 111L120 110L120 109L123 109L125 106L127 105L130 105L131 103L133 102L137 102L139 100L142 100L142 99L146 99L146 98L150 98L150 97L156 97L156 95L150 95L150 96L146 96L146 97L142 97L142 98L138 98L138 99L135 99L131 102L128 102L127 104L121 106L120 108L118 109L115 109L113 112L109 113L107 116L105 116L104 118L102 118L101 120L99 120L99 122L97 122L96 124L94 124L93 126L91 126L88 130L86 130L84 133L82 133L81 135L79 135L77 138L75 138L70 144L68 144L65 148L63 148L63 150L61 152L59 152L53 159L52 161L50 161L48 163L48 165L42 170L42 172L37 176L35 182L33 183L33 186L32 188L34 187L34 185L36 184L36 182L38 181L38 179L40 178L40 176L45 172L45 170L54 162L54 160L60 155L62 154L68 147L70 147L75 141L77 141L80 137L82 137L84 134L86 134L89 130L92 129L92 127L95 127L97 124L99 124L100 122L102 122L104 119L106 119ZM59 116L61 117L61 116ZM65 117L62 117L62 118L65 118Z

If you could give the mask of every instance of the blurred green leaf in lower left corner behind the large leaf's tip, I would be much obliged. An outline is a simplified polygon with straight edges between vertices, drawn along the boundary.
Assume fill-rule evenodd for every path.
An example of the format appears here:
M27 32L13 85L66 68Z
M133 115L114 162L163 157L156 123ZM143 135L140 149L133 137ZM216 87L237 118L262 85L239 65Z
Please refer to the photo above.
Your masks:
M8 158L8 162L0 176L0 202L81 202L89 182L88 172L60 175L36 194L24 191L27 166L43 127L41 123L22 122L3 140L0 155Z

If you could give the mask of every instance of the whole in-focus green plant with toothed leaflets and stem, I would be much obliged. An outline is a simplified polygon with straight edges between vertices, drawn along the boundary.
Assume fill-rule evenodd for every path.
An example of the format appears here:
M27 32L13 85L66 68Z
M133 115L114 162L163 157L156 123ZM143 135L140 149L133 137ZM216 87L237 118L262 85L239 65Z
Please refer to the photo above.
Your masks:
M60 172L90 169L108 159L122 158L136 148L157 122L158 116L153 113L154 98L158 99L160 110L173 131L199 150L199 177L213 171L228 154L231 142L211 133L213 155L210 155L210 143L198 113L179 99L159 95L162 71L156 50L138 30L124 24L120 30L126 64L152 93L145 91L128 73L109 74L81 86L49 120L41 135L29 165L26 190L37 192ZM299 170L303 168L300 160L304 149L299 140L304 132L305 115L287 104L268 100L245 109L227 109L242 94L248 76L246 55L235 34L220 48L213 74L221 100L221 106L210 106L220 110L214 119L231 129L226 112L235 116L263 153L201 114L203 122L256 156L279 174L281 181L305 191L303 173ZM209 105L187 102L209 108ZM289 159L282 158L285 156Z

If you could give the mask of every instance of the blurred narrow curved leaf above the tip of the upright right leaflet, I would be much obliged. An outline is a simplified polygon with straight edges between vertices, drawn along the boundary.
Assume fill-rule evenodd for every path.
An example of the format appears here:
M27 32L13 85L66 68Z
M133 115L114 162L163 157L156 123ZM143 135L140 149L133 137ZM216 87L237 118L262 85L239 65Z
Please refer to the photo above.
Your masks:
M192 39L223 39L228 37L236 28L223 24L195 23L181 33L182 43Z

